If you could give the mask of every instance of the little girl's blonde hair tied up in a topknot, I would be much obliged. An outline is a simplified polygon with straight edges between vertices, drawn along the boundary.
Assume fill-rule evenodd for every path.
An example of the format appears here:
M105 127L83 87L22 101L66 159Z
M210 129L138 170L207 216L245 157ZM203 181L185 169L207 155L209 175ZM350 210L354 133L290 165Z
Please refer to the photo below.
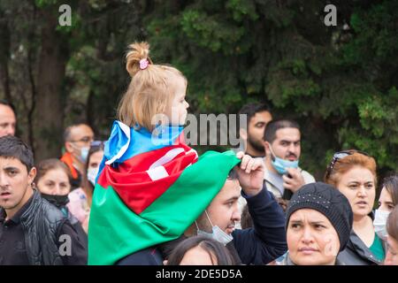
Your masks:
M148 42L134 42L128 46L126 70L132 80L118 107L118 119L134 128L146 127L152 132L152 119L165 113L174 96L172 76L187 79L179 70L168 65L154 65L149 57ZM140 61L147 59L149 65L140 68Z

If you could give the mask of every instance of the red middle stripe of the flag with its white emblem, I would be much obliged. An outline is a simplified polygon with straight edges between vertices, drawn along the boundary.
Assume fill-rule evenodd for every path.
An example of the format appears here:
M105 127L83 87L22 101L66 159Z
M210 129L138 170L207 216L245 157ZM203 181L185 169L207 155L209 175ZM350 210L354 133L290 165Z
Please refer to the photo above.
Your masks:
M106 165L98 183L102 187L113 187L122 201L140 214L196 161L195 150L188 146L165 147L128 159L118 168Z

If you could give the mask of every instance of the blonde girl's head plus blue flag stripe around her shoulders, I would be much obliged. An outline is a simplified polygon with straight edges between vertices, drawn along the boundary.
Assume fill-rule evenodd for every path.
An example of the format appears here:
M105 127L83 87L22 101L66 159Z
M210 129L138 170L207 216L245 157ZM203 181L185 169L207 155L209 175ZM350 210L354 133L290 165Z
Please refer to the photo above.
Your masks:
M113 167L141 153L180 144L189 107L185 101L187 79L172 66L154 65L147 42L129 46L126 70L132 80L119 103L119 120L113 124L104 150L106 164Z

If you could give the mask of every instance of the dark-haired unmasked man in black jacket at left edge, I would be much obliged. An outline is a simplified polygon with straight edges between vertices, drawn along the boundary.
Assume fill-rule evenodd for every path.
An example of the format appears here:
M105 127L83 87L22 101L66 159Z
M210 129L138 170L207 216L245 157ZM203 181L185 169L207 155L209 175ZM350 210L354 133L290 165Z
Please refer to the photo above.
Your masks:
M87 264L87 247L57 207L32 186L31 149L0 138L0 265Z

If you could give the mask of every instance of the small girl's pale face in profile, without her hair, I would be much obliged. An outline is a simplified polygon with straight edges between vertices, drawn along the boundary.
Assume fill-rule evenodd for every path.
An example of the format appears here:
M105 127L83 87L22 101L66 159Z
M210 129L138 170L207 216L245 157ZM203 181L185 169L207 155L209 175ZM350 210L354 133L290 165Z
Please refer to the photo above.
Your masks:
M189 104L185 101L187 83L184 78L177 75L173 76L171 82L174 97L172 107L167 109L165 114L169 119L169 125L181 126L185 124L189 107Z

